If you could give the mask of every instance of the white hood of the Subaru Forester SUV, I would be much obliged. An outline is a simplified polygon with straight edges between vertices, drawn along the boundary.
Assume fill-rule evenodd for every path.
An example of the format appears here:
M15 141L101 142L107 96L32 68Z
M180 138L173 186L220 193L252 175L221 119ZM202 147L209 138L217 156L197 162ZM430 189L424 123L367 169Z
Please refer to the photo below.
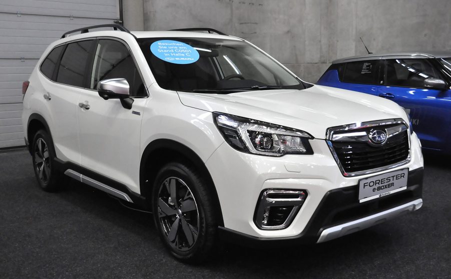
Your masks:
M296 128L322 139L333 126L389 118L408 122L402 107L391 100L322 85L303 90L178 94L187 106Z

